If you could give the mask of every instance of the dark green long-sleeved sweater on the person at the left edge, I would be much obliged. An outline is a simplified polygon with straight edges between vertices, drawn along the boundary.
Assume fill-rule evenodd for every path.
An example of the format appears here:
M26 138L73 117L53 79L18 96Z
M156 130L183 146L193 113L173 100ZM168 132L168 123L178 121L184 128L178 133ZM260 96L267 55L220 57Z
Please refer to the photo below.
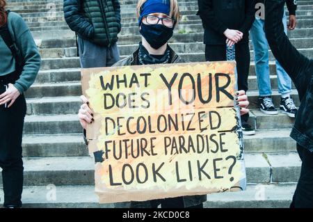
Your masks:
M40 54L31 35L31 31L24 20L17 13L8 14L8 29L11 37L15 41L17 54L22 63L22 73L15 81L15 88L19 93L24 93L35 81L40 68ZM10 74L15 71L15 58L6 43L0 36L0 76Z

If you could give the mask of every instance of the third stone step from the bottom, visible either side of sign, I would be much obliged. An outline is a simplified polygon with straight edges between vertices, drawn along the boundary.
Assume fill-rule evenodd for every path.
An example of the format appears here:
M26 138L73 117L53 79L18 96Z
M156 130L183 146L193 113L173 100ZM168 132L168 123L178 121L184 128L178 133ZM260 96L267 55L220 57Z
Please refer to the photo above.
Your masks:
M246 154L296 152L290 129L259 130L244 136ZM33 134L23 137L23 157L88 157L82 134Z

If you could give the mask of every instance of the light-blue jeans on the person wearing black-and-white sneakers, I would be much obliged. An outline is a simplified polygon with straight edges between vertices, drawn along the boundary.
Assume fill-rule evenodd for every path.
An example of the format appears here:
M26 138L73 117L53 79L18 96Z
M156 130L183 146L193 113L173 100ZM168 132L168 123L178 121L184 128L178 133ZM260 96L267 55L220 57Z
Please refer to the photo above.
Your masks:
M287 16L282 19L284 32L287 34ZM264 33L264 20L259 17L250 29L253 49L255 50L255 72L257 74L257 84L259 86L259 96L272 95L270 70L268 65L268 42ZM291 79L284 71L280 63L276 61L276 73L278 77L278 93L291 93Z

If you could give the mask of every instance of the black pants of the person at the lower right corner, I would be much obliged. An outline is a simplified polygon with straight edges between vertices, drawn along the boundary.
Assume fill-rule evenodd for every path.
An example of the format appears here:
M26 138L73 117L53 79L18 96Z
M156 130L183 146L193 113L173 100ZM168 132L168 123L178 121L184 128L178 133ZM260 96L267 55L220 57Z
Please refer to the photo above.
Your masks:
M291 208L313 208L313 152L297 145L302 160L300 178Z

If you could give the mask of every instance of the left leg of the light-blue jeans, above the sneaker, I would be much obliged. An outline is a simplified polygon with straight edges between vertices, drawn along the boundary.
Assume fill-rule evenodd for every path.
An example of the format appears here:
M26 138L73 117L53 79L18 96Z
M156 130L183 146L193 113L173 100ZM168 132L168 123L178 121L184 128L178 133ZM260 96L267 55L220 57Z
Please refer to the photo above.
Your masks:
M255 73L259 96L271 96L271 79L268 65L268 43L264 33L264 20L255 18L250 29L253 49L255 51Z

